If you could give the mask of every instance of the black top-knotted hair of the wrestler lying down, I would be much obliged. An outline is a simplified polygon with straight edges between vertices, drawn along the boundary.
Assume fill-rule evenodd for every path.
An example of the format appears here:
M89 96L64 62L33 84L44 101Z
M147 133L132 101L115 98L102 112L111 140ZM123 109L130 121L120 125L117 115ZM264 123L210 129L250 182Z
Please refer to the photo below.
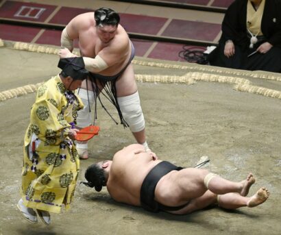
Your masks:
M90 188L95 187L97 192L99 192L103 186L106 186L104 170L98 164L88 166L85 172L85 179L87 182L83 182L83 184Z

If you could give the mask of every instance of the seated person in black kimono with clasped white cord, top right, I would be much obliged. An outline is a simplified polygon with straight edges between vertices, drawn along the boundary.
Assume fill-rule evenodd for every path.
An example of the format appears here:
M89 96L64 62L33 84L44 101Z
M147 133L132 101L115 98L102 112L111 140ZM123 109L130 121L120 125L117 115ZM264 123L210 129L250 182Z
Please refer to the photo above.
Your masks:
M221 30L211 65L281 72L281 0L235 0Z

